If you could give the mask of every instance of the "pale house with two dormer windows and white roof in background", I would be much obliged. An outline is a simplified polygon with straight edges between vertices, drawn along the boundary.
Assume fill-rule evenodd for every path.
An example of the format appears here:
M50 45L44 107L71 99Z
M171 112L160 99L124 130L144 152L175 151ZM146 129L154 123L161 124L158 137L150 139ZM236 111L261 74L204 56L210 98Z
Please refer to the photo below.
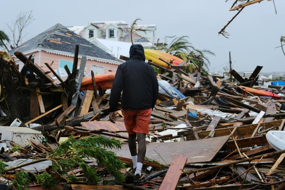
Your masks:
M141 44L145 49L153 47L156 25L137 25L137 27L148 31L134 32L132 35L133 43ZM84 37L91 43L96 42L94 39L97 38L131 43L131 26L124 21L91 22L86 26L73 26L67 28Z

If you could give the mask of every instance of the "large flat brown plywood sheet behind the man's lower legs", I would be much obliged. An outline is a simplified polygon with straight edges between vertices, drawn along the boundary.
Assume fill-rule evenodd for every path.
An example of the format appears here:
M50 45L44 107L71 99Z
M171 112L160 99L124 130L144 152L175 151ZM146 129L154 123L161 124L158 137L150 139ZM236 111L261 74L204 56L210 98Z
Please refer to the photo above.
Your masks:
M145 156L162 164L165 162L170 164L175 155L187 157L187 163L211 162L228 138L229 136L222 136L184 142L149 143L146 145ZM117 156L131 157L128 145L123 145L121 150L113 149L112 151Z

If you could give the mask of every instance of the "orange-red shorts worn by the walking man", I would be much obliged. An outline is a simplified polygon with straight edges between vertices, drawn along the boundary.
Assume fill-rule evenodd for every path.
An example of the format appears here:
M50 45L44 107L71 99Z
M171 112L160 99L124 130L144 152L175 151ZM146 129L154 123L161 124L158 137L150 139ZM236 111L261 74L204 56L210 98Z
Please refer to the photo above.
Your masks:
M122 110L128 134L148 134L151 111L151 108L146 110Z

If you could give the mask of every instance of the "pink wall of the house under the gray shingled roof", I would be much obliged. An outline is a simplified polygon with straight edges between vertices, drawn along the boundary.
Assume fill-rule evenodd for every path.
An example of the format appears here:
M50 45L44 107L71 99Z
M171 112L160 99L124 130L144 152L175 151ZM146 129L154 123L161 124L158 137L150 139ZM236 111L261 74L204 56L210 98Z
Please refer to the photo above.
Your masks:
M51 65L51 67L53 69L57 69L59 68L59 60L65 60L65 61L73 61L73 57L68 57L68 56L62 56L62 55L57 55L57 54L53 54L53 53L47 53L45 51L41 51L41 53L39 52L34 52L32 53L34 55L34 63L38 64L39 66L41 66L42 69L44 69L45 71L50 71L47 66L45 65L45 63L51 64L53 62L53 64ZM39 63L39 54L40 55L40 63ZM27 57L29 57L31 54L26 55ZM18 58L14 58L15 61L18 60ZM80 61L81 59L78 58L78 65L80 66ZM20 64L23 64L22 62L20 62ZM95 66L102 66L104 67L104 73L112 73L112 72L116 72L117 68L119 65L116 64L110 64L110 63L103 63L103 62L99 62L96 60L89 60L87 59L86 61L86 65L85 67L87 68L87 75L91 72L91 65L95 65ZM52 73L50 73L49 75L53 75Z

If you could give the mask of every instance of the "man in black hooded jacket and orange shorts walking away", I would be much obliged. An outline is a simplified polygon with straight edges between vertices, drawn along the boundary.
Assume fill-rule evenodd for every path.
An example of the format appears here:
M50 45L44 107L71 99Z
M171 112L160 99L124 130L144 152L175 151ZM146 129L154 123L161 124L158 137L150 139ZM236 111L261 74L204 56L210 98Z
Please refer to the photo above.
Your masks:
M158 98L156 74L154 69L145 63L143 46L140 44L132 45L129 61L118 66L109 100L109 117L113 123L122 90L122 113L129 134L129 149L134 169L136 168L134 175L139 179L146 152L145 136L149 132L151 111Z

